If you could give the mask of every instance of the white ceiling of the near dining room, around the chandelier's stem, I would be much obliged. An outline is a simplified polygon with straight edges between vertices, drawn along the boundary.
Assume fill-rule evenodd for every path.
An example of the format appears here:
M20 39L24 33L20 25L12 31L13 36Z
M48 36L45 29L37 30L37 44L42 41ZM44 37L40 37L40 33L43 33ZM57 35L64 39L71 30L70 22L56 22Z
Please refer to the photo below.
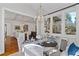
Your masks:
M42 14L59 10L72 5L71 3L42 3ZM25 13L27 16L35 17L39 12L40 3L0 3L0 8L8 8Z

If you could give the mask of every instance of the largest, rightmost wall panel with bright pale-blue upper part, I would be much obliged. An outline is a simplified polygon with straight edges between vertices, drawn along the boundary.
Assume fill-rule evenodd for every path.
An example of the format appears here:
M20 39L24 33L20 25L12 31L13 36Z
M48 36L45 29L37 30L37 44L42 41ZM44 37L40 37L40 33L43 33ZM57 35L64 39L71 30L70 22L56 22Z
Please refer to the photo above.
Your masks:
M76 12L66 13L65 33L70 35L76 34Z

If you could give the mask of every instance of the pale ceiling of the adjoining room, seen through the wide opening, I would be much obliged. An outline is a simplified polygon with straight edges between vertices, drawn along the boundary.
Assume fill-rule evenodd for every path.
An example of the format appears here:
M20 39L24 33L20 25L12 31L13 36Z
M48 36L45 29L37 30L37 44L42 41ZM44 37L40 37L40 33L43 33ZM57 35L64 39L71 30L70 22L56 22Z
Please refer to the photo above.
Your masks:
M34 23L34 20L32 17L24 16L21 14L17 14L17 13L13 13L5 10L5 22L7 20Z

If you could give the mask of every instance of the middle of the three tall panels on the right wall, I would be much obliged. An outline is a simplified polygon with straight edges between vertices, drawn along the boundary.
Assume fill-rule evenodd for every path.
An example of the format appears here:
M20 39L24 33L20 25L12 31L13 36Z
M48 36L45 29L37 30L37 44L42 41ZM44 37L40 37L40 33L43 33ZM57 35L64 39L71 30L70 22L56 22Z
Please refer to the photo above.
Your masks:
M54 16L53 17L53 33L61 33L61 16Z

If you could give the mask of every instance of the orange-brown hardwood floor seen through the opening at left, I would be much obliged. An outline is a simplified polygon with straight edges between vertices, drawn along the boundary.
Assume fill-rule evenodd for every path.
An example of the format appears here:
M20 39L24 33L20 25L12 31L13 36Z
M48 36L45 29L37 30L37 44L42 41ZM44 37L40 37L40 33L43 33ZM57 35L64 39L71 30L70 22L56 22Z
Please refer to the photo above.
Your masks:
M5 39L5 53L1 54L0 56L8 56L18 51L19 48L18 48L17 39L15 37L7 36Z

